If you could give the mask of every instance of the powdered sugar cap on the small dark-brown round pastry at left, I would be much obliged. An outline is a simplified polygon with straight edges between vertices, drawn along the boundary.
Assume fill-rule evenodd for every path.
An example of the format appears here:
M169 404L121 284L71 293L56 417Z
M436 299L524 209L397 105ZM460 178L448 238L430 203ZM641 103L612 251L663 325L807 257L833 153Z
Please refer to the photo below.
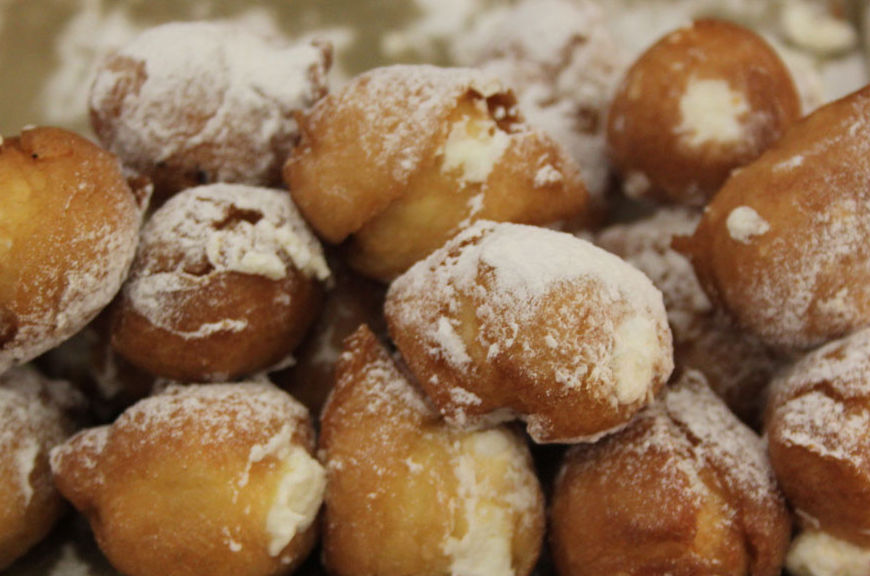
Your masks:
M124 295L155 326L200 338L247 326L244 318L220 319L196 330L176 325L183 303L199 297L198 290L217 275L240 272L280 280L293 270L317 280L329 277L323 250L290 196L213 184L175 195L152 216Z

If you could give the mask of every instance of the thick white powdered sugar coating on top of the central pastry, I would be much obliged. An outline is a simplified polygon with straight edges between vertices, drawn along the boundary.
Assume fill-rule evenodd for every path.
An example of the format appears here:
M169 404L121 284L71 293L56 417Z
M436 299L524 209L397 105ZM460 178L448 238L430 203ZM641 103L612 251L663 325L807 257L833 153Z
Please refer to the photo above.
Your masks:
M584 309L590 314L614 310L601 320L609 335L574 336L572 326L580 314L576 303L549 303L553 294L566 289L584 291ZM441 310L456 318L467 299L473 302L476 321L484 327L474 342L460 346L461 339L444 338L449 321ZM645 373L642 369L618 370L621 365L614 350L619 327L637 318L649 319L654 341L645 342L644 350L649 349L647 359L656 369L660 368L658 356L665 356L659 334L668 331L661 294L642 273L615 256L568 234L486 221L475 223L393 282L387 316L402 330L420 334L430 355L451 359L465 373L477 369L475 363L469 364L465 351L474 345L490 355L527 358L528 366L535 365L543 377L564 390L586 388L614 402L619 390L629 394L629 383L620 382L620 374ZM544 322L551 323L563 338L559 346L546 347L560 355L558 361L532 360L542 351L526 340L534 340L529 326ZM645 382L644 391L651 384ZM636 396L634 391L630 395ZM465 419L461 410L450 418Z

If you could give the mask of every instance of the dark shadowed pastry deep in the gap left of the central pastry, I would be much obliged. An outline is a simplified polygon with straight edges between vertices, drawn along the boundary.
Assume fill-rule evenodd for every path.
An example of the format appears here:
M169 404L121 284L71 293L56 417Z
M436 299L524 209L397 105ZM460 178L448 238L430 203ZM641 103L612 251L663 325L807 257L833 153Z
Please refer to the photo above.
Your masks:
M286 371L269 375L312 414L320 414L335 384L335 363L344 339L362 324L376 334L387 331L384 285L353 272L341 258L329 258L328 262L335 286L326 295L323 312L293 352L296 363Z

